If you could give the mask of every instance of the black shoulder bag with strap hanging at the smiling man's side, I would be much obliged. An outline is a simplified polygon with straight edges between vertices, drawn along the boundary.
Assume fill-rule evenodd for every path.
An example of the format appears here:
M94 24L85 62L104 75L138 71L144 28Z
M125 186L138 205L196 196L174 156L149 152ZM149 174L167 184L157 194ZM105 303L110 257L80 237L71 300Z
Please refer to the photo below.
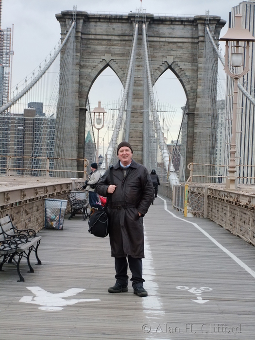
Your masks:
M110 166L110 179L111 184L113 183L113 174L112 174L113 166ZM107 216L107 205L109 203L110 197L107 199L107 202L104 208L99 209L94 212L93 215L90 216L88 220L88 232L98 238L105 238L109 234L108 228L108 216Z

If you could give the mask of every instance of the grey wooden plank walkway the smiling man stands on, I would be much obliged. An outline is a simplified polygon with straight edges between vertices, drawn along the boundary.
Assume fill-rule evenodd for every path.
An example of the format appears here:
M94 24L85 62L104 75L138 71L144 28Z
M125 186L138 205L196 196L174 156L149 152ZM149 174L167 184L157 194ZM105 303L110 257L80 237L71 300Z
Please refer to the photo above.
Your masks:
M90 235L81 216L40 231L42 265L27 273L22 259L24 283L12 264L0 272L0 339L254 339L255 247L208 219L185 219L163 197L144 226L144 298L131 285L108 293L109 239Z

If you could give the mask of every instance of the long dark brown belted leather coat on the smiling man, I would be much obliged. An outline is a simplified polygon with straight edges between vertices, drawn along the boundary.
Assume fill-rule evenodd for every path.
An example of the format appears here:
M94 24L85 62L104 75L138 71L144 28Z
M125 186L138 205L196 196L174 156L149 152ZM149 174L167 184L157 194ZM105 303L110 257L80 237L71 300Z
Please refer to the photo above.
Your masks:
M132 160L124 177L119 162L112 170L114 183L110 182L110 170L106 170L97 184L96 190L102 196L109 196L110 184L117 187L107 198L109 217L109 237L112 256L131 255L144 257L143 219L153 201L154 191L147 169ZM139 217L138 211L142 214Z

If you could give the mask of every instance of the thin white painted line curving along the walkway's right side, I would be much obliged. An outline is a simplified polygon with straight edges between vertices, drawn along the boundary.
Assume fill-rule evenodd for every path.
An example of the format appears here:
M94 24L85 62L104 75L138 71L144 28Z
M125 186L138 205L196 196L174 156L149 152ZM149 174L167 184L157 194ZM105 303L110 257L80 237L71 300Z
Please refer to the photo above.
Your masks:
M255 272L248 267L244 262L242 262L236 255L234 255L233 253L231 253L229 250L227 250L225 247L223 247L221 245L221 243L219 243L218 241L216 241L215 238L211 237L206 231L204 231L204 229L202 229L197 223L191 222L191 221L187 221L185 219L182 219L178 216L176 216L175 214L173 214L170 210L168 210L167 208L167 201L164 200L162 197L159 197L162 201L164 201L164 208L165 210L170 213L170 215L172 215L172 217L181 220L181 221L185 221L186 223L192 224L194 225L194 227L196 227L199 231L201 231L201 233L204 234L204 236L206 236L207 238L209 238L209 240L211 240L215 245L217 245L217 247L219 247L224 253L226 253L228 256L230 256L235 262L237 262L237 264L242 267L244 270L246 270L246 272L248 272L249 274L251 274L254 278L255 278Z

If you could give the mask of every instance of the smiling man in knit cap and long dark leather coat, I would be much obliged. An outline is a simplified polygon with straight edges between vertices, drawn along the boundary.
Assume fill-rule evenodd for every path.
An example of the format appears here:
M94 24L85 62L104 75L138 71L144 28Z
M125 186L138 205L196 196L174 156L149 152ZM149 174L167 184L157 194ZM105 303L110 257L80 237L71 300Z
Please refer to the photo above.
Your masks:
M111 254L115 257L116 283L110 293L128 291L127 269L132 273L134 294L147 296L143 288L142 258L144 258L143 217L154 196L148 170L132 159L128 142L117 148L118 163L113 167L114 184L110 184L110 170L106 170L97 184L97 192L109 200L107 214Z

